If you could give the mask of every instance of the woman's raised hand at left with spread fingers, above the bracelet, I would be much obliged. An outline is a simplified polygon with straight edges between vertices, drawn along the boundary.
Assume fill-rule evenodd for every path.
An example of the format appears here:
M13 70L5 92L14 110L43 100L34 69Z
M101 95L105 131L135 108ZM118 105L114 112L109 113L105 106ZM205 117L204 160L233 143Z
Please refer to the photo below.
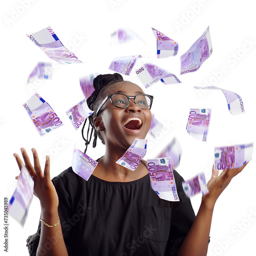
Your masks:
M31 164L25 148L20 148L22 156L25 162L25 166L28 169L29 174L34 180L34 195L38 197L41 204L41 209L46 212L52 212L58 209L58 195L56 189L50 179L50 157L46 156L46 164L44 173L42 173L39 159L35 148L32 148L34 167ZM22 160L15 153L15 157L19 170L22 169Z

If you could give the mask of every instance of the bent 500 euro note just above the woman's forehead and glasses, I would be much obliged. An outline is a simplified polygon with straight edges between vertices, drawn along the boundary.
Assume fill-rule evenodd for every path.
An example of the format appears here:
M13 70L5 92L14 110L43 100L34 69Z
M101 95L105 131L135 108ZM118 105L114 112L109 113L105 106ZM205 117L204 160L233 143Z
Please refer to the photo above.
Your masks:
M136 70L136 74L145 88L161 81L164 84L180 83L179 78L152 63L145 63L141 68Z

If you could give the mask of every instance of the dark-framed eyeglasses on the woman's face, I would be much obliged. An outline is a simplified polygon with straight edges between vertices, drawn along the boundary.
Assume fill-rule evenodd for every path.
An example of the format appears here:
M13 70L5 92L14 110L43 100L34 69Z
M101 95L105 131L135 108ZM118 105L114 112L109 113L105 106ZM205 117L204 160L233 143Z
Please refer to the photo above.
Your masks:
M106 96L99 108L97 109L96 116L98 115L99 110L104 105L104 103L110 98L112 104L116 106L116 108L126 109L127 106L130 105L131 99L134 99L134 102L141 109L151 109L153 96L147 94L137 94L135 96L128 96L123 93L114 93Z

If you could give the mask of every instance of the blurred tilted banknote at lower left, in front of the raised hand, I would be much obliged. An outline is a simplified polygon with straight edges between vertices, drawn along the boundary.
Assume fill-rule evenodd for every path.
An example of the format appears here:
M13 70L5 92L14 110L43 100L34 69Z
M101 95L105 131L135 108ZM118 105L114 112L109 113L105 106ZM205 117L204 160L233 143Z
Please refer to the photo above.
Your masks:
M28 173L27 168L22 163L20 170L17 187L9 201L8 211L9 214L15 218L22 226L24 226L29 206L33 198L34 180Z

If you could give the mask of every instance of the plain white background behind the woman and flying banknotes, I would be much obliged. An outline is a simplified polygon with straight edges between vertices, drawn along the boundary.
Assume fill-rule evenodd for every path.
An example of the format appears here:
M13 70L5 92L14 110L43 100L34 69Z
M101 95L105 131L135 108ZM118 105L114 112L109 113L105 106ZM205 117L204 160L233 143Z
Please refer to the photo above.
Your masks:
M135 68L145 62L153 62L174 73L183 82L175 85L158 82L144 89L145 93L154 95L152 113L165 124L165 131L169 131L159 134L155 141L150 139L145 158L156 156L175 136L182 146L181 164L177 171L184 179L204 171L208 180L214 146L255 141L255 1L33 0L32 3L24 0L24 5L26 7L23 7L22 0L12 0L2 3L1 8L2 204L4 197L11 197L16 186L14 177L19 170L12 154L20 154L20 147L25 147L30 156L30 149L35 147L42 165L45 156L50 155L51 177L71 165L75 143L80 150L84 150L81 127L75 131L66 111L83 99L79 77L92 72L113 73L108 67L111 60L118 56L141 54L143 59L137 61ZM51 26L63 45L84 63L57 64L54 66L53 80L37 81L28 86L27 77L36 63L51 60L32 44L26 34L47 26ZM203 34L207 26L210 27L212 56L197 72L179 75L180 56ZM133 29L145 43L136 40L110 47L110 34L117 28L125 27ZM176 57L156 58L156 39L151 27L179 43ZM248 41L252 42L251 46ZM225 74L221 73L223 66L228 70ZM124 76L124 79L142 87L135 74ZM203 92L193 88L209 85L206 82L238 93L244 101L246 112L233 116L228 112L221 91ZM36 91L65 124L42 137L22 106ZM197 141L187 134L185 128L189 108L212 109L207 142ZM61 147L59 141L63 146L57 150ZM98 141L96 148L89 147L88 154L97 159L104 154L104 146ZM252 156L251 162L218 199L212 219L208 255L255 255L255 165ZM191 201L197 212L201 196ZM27 255L26 239L36 231L39 216L39 201L34 198L24 228L9 217L10 255ZM3 228L2 232L0 237L4 241ZM1 244L2 254L4 248Z

